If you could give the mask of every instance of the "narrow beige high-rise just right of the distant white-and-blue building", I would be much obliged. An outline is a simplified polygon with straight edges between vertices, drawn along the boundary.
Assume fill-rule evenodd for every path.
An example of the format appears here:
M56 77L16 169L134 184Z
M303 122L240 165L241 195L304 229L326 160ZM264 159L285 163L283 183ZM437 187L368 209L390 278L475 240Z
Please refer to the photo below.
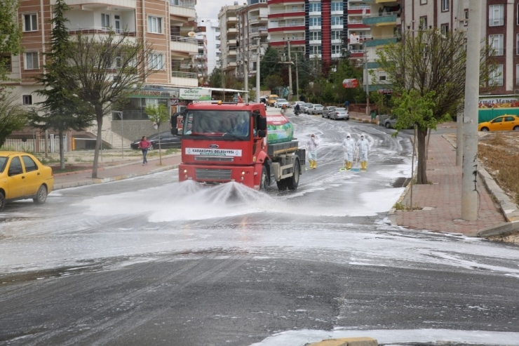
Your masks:
M238 10L243 5L238 5L238 1L234 1L234 5L223 6L218 13L220 21L220 61L222 62L222 70L227 76L236 76L236 55L238 53Z

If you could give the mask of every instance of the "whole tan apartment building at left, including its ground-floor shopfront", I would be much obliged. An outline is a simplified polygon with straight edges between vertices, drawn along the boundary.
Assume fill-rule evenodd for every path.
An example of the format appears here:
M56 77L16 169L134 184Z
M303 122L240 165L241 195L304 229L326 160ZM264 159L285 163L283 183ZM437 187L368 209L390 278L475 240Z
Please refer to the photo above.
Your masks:
M20 2L18 20L22 26L24 52L8 56L8 65L11 66L11 78L18 80L11 86L24 105L43 101L34 93L41 88L34 77L44 72L43 53L50 46L49 21L53 4L54 0ZM126 146L128 140L137 138L137 133L153 133L154 128L144 114L144 107L150 102L172 105L180 88L198 87L198 73L182 69L190 65L198 54L198 41L194 37L196 0L69 0L67 4L70 9L65 16L69 20L67 29L71 35L103 35L113 31L128 39L143 37L154 49L146 66L154 69L154 73L147 78L144 88L135 91L120 112L114 112L116 115L107 116L103 121L103 138L108 145L113 147L119 142ZM124 133L123 119L126 124ZM126 120L134 122L128 124ZM91 138L95 129L69 135ZM70 137L67 143L70 148Z

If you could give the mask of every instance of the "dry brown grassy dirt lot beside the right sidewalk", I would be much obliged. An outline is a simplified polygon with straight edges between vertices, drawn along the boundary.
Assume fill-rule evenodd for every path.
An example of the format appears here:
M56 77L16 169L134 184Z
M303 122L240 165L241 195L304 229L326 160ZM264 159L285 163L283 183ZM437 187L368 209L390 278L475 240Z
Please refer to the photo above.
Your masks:
M481 164L510 200L519 204L519 131L478 132L478 135ZM449 137L455 141L456 133L449 133ZM493 237L492 240L519 244L519 234Z

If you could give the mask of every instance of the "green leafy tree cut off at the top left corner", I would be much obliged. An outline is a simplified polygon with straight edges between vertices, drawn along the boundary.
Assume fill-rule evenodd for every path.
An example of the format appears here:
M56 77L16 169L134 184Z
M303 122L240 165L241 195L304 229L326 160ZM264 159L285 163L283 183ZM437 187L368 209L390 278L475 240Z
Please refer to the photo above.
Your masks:
M0 84L11 81L8 74L11 74L10 67L11 55L18 55L22 51L20 46L22 41L22 27L18 20L19 0L2 0L0 1ZM1 86L0 86L1 91Z

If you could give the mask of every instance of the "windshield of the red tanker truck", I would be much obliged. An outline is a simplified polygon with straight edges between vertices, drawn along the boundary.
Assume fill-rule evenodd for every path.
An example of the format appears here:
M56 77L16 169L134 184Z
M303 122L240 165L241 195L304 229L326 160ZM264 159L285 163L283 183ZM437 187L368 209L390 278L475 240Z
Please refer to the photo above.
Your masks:
M182 128L184 136L231 136L248 138L250 112L227 110L189 110Z

